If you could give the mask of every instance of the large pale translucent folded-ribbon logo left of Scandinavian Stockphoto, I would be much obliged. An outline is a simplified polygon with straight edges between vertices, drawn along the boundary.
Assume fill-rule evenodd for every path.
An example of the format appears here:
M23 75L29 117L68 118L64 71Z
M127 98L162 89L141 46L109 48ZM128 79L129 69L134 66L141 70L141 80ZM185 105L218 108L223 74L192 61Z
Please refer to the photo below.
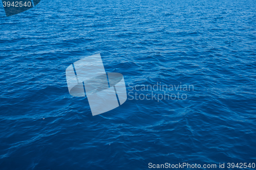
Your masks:
M127 99L123 75L106 73L100 54L68 66L66 79L72 96L87 96L93 116L115 109Z

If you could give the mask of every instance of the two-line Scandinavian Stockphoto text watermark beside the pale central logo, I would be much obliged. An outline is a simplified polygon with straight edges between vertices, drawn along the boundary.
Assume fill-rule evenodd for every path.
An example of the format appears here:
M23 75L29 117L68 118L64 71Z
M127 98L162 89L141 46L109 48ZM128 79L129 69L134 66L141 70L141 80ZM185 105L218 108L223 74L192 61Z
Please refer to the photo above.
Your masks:
M194 85L180 84L167 85L157 82L154 85L136 85L129 83L128 100L186 100L188 91L194 91Z

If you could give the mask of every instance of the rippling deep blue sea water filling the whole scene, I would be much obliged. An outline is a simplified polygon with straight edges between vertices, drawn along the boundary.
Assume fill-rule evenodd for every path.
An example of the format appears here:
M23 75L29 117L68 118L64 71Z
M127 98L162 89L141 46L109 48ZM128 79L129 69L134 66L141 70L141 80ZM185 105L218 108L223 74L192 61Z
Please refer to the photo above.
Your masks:
M253 0L42 0L11 17L2 6L0 169L256 163L255 11ZM194 90L129 96L92 116L65 70L98 53L127 93L157 82ZM152 92L163 94L137 91Z

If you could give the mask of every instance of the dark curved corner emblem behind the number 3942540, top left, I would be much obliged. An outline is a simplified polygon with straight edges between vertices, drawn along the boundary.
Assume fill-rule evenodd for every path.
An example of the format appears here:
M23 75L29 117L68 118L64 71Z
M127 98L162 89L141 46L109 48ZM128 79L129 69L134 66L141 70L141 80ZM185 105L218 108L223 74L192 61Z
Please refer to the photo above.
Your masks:
M12 16L35 7L41 0L2 0L6 16Z

